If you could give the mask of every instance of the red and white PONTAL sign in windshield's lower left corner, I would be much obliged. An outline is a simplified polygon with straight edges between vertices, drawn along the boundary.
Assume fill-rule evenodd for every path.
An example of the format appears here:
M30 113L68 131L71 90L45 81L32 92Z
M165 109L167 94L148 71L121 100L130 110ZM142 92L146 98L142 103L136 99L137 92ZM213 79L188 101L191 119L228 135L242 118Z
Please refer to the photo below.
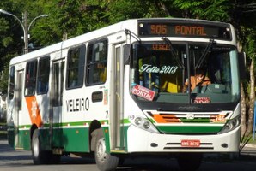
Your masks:
M153 101L155 97L155 91L151 91L150 89L143 87L142 85L135 85L131 89L131 93L137 95L138 97L143 97L149 101Z

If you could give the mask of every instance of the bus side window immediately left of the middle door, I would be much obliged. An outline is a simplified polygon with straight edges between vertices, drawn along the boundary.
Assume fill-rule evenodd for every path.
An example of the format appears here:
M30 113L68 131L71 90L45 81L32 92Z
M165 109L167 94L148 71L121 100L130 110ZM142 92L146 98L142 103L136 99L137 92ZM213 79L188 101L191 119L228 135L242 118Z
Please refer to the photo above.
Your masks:
M37 94L46 94L49 87L50 56L40 58L37 80Z

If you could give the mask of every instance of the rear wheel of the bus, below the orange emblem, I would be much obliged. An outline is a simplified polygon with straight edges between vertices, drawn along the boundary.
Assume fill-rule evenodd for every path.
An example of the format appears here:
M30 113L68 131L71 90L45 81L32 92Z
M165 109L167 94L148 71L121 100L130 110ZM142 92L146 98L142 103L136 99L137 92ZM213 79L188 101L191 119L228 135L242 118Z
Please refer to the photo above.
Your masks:
M38 129L34 130L32 137L32 156L34 164L46 163L46 151L40 149L40 139Z

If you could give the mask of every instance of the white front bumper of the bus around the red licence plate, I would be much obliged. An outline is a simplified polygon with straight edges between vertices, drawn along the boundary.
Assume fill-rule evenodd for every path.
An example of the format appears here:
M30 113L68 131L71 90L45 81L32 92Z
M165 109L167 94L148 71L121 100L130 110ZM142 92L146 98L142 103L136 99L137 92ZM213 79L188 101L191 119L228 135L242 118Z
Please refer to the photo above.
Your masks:
M145 132L131 126L127 131L128 152L238 152L240 127L220 135L168 135ZM191 141L194 144L184 144ZM199 144L198 144L199 142Z

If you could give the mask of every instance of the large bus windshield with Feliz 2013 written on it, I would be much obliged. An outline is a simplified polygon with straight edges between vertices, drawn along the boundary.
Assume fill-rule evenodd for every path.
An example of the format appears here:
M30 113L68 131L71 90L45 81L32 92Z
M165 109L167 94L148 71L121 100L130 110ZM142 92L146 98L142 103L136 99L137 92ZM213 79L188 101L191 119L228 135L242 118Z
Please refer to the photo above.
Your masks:
M131 94L160 103L233 103L240 91L234 46L210 43L133 44Z

